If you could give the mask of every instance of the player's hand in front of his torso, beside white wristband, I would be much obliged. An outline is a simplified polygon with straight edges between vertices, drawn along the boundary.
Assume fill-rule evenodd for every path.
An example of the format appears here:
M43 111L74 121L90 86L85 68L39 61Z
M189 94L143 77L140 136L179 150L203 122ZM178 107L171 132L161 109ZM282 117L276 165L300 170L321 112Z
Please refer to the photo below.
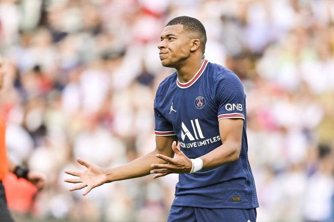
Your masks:
M192 168L191 160L180 150L180 143L176 145L176 141L172 144L174 157L168 157L161 154L156 154L156 157L168 162L165 164L153 163L151 167L154 169L150 173L157 174L153 177L163 177L169 174L189 174Z

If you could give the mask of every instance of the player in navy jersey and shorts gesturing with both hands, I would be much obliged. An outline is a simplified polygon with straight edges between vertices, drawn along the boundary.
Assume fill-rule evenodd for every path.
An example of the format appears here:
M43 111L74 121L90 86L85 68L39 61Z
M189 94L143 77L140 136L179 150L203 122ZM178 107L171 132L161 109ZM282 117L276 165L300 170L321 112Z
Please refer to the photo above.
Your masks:
M177 173L168 221L256 221L243 86L233 72L204 59L205 42L205 29L194 18L177 17L165 26L160 60L176 73L156 92L155 150L110 170L78 158L87 170L65 172L79 177L65 180L80 183L70 191L88 187L86 195L104 183Z

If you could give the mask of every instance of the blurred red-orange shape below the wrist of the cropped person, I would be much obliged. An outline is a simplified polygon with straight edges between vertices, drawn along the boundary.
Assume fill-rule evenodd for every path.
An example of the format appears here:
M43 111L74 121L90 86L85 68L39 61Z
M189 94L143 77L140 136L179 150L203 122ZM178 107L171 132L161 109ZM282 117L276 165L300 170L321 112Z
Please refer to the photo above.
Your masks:
M13 173L5 176L3 184L9 209L22 213L28 212L37 192L36 187L25 179L17 179Z

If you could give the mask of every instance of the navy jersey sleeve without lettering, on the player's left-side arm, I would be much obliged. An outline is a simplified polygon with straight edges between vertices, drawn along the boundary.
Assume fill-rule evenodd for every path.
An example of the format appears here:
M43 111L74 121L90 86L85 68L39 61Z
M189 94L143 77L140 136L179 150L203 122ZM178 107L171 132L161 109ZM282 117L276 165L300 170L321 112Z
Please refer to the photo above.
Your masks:
M173 125L164 118L164 116L160 113L159 107L159 88L155 95L154 99L154 119L155 119L155 128L154 133L156 136L174 136L176 135L173 130Z

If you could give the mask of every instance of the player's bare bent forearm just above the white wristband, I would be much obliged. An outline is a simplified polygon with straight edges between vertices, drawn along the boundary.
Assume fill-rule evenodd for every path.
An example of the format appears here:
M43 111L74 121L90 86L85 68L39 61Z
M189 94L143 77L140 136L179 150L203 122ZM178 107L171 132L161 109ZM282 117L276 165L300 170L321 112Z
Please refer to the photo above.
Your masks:
M202 169L216 168L229 162L238 160L241 145L236 142L226 142L209 153L201 156Z

